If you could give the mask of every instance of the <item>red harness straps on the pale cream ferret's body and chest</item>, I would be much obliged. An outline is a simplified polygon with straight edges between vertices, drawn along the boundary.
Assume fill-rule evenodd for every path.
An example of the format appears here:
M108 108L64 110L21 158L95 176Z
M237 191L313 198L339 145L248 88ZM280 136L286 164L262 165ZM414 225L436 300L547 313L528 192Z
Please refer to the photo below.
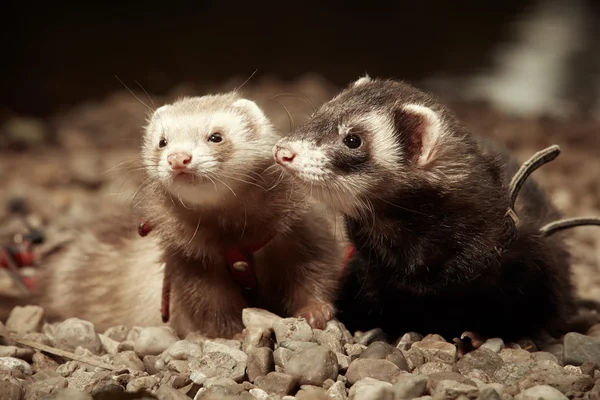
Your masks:
M138 233L140 236L147 236L152 227L148 222L142 222L138 227ZM274 236L274 235L273 235ZM253 303L255 300L255 289L257 285L256 275L254 273L254 253L265 247L272 239L273 236L267 238L263 242L256 243L254 245L242 247L232 246L225 250L225 259L227 260L227 267L233 280L240 286L244 297L248 303ZM346 252L345 262L340 271L339 279L341 279L345 273L348 262L354 256L356 249L350 245ZM171 294L171 281L168 274L165 273L163 277L162 287L162 300L161 300L161 316L163 322L169 320L169 300Z

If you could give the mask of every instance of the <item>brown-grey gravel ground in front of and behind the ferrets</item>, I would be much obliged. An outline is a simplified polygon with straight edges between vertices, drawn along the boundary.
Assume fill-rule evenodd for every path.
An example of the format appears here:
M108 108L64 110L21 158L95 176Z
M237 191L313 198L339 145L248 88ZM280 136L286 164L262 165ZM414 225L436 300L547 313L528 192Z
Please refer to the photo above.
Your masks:
M43 227L51 246L69 227L93 217L107 197L129 201L140 185L130 162L137 158L148 111L141 101L153 108L182 94L230 90L243 81L182 85L152 101L143 92L136 91L136 100L123 90L49 120L15 116L0 127L0 199L23 198L28 221ZM337 90L307 76L287 84L251 81L242 92L287 132L306 118L311 101L318 105ZM281 93L296 95L272 98ZM600 123L511 119L480 104L451 105L474 131L493 136L522 159L559 144L561 156L535 178L566 215L600 215ZM24 229L22 219L0 208L1 240ZM574 229L569 243L579 295L600 299L600 229ZM0 275L0 291L16 293L6 276ZM378 331L350 333L336 321L311 330L303 320L257 309L244 312L242 342L197 334L178 338L166 328L96 332L77 319L47 324L34 306L15 308L4 322L5 333L25 342L0 341L1 399L600 399L600 326L539 348L525 339L489 339L463 355L460 346L435 332L409 332L385 344Z

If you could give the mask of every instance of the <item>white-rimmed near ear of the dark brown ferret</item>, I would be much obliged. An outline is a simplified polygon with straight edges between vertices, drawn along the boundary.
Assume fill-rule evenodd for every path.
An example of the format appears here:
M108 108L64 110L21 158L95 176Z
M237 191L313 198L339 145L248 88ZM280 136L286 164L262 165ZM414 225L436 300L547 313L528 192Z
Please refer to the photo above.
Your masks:
M435 160L443 130L434 110L420 104L403 105L395 112L394 125L402 146L418 167L426 168Z

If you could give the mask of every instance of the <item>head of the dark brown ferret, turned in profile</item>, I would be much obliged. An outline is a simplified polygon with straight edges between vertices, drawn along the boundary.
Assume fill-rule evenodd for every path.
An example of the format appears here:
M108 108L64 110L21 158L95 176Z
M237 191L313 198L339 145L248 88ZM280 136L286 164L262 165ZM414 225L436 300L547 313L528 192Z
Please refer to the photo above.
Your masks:
M318 200L352 214L390 185L409 190L447 177L448 169L442 173L437 165L455 130L433 97L366 76L282 138L273 157Z

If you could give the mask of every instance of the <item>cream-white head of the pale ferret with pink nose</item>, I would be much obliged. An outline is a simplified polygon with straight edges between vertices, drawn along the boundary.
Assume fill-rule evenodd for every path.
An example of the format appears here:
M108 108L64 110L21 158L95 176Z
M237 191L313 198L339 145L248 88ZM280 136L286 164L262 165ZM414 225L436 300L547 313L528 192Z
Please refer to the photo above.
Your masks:
M271 163L279 139L251 100L235 93L188 97L158 108L145 129L149 177L185 205L234 196L249 173Z

